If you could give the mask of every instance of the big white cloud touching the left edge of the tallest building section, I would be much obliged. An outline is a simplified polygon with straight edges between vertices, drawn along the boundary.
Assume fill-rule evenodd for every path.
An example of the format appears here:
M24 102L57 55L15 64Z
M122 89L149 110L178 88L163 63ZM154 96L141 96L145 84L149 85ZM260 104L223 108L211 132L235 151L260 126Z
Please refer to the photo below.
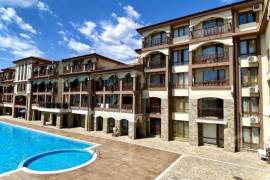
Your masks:
M91 51L104 54L106 56L130 61L136 56L134 49L141 46L141 39L136 31L141 27L140 14L130 5L123 7L126 16L118 16L112 13L116 22L103 21L96 23L85 22L81 27L75 28L90 41ZM67 38L67 37L65 37Z

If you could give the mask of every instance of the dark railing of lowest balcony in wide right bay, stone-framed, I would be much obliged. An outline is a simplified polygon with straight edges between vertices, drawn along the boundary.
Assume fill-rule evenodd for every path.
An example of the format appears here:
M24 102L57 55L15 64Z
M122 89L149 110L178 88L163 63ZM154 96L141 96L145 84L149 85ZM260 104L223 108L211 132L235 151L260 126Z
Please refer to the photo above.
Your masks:
M223 108L202 108L199 109L198 117L223 119Z

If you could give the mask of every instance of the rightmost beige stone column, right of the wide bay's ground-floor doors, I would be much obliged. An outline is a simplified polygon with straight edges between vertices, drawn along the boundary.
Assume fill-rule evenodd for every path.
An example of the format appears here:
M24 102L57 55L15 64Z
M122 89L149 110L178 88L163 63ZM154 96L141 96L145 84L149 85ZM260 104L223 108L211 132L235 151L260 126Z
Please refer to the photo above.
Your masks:
M224 100L224 149L235 152L235 124L234 124L234 102L233 100Z

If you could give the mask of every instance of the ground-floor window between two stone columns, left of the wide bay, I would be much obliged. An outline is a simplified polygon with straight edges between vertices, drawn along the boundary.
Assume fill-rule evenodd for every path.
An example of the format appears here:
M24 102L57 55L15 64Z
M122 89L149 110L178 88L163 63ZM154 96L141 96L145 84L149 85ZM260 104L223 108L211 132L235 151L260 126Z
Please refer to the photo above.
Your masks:
M188 138L189 123L188 121L173 121L173 136L175 138Z

